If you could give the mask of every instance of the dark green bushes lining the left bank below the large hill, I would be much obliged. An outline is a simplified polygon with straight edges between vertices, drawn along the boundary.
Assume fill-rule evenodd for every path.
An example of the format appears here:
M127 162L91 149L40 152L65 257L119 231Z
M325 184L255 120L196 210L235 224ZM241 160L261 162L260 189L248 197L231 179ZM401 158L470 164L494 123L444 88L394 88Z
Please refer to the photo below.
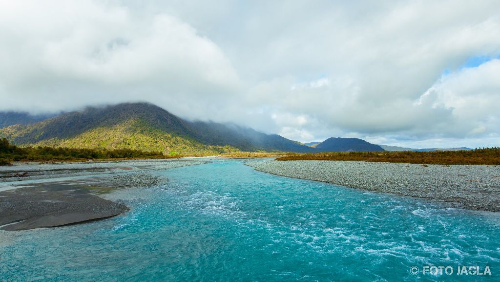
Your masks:
M11 161L68 161L88 159L155 159L178 158L177 155L163 155L161 152L132 149L75 149L53 147L17 147L9 144L5 138L0 139L0 165L8 165Z

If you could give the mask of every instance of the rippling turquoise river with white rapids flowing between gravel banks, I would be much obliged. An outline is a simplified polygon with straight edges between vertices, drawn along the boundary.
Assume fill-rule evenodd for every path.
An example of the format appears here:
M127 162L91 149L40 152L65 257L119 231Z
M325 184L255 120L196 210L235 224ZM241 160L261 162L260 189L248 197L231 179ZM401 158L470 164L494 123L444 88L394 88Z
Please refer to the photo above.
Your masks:
M243 160L155 173L168 183L117 192L131 207L123 215L0 244L0 281L500 281L497 213L280 177Z

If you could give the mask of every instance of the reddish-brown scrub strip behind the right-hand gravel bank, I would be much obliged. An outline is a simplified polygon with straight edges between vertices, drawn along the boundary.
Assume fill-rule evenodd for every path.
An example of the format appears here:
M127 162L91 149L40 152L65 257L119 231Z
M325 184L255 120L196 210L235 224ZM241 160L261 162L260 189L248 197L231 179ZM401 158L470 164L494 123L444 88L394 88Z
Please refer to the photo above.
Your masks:
M324 160L324 161L368 161L415 164L469 164L500 165L500 147L482 148L468 151L432 152L335 152L293 154L276 158L278 161Z

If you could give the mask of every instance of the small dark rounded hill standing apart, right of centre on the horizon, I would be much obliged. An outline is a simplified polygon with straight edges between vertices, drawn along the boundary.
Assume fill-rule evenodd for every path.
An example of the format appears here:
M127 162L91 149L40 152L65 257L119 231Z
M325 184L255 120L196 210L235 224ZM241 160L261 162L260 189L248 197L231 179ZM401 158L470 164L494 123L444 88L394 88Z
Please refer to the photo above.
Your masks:
M328 138L314 147L316 152L375 152L384 151L380 146L358 138Z

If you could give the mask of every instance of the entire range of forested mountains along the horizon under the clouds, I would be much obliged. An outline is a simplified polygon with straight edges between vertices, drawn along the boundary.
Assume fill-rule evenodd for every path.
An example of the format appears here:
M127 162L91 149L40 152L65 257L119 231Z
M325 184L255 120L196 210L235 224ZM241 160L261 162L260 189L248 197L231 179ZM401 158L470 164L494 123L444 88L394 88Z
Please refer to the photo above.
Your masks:
M87 107L56 116L0 112L0 138L23 146L129 148L166 154L348 152L395 150L358 138L328 138L302 144L234 124L187 121L149 103ZM416 150L401 148L401 150Z

